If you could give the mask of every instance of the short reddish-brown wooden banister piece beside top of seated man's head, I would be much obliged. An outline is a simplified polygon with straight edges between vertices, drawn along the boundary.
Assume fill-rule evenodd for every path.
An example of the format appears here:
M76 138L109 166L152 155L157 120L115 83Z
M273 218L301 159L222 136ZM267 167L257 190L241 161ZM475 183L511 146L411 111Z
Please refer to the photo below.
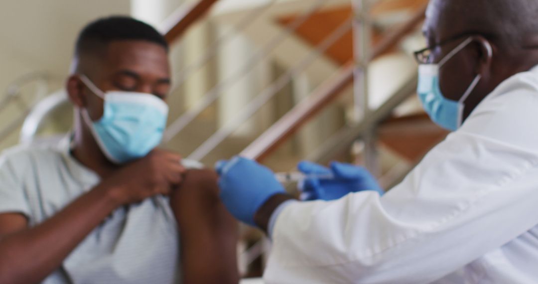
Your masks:
M169 44L172 44L175 40L179 39L190 25L205 16L217 1L218 0L200 0L199 2L187 6L185 9L180 9L173 13L173 15L166 20L163 29L166 41L168 41Z

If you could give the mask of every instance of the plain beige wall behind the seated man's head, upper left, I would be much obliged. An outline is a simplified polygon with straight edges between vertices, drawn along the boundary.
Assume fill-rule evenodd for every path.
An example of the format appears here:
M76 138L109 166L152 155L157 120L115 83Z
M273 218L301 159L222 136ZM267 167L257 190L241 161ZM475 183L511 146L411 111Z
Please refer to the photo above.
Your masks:
M36 71L52 76L51 91L61 88L81 28L101 16L129 13L130 0L0 1L0 98L11 82ZM15 104L0 113L0 133L19 113ZM18 131L0 141L0 149L17 140Z

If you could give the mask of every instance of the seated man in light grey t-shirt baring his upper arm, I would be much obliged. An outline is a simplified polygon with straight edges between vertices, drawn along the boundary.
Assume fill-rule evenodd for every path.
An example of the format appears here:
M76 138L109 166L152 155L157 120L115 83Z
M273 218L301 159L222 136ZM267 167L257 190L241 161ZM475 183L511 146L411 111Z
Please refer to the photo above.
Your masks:
M237 283L216 175L155 149L168 114L164 38L100 19L72 68L70 139L0 159L0 283Z

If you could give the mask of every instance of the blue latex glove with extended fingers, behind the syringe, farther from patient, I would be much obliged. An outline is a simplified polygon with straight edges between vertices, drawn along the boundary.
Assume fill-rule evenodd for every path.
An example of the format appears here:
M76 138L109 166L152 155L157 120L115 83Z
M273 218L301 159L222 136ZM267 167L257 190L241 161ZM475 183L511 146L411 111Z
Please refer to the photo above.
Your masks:
M374 190L384 194L376 179L364 167L333 162L330 169L302 161L297 166L306 175L333 175L334 179L308 177L299 184L302 200L337 200L349 193Z

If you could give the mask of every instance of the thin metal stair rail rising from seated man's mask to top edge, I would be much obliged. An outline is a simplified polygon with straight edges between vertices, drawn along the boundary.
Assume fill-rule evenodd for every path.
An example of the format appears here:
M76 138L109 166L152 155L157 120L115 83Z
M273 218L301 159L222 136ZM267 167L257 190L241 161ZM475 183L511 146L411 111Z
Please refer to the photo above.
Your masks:
M246 65L244 65L243 68L239 69L239 72L224 79L220 83L217 83L216 86L213 87L213 89L208 91L208 93L206 93L206 95L204 95L199 100L199 102L197 102L192 108L190 108L187 112L185 112L182 116L180 116L172 124L170 124L164 134L164 143L167 143L179 132L185 129L185 127L189 123L191 123L197 116L199 116L202 111L207 109L209 105L211 105L217 100L218 97L220 97L220 91L223 88L225 88L231 83L237 82L248 72L250 72L250 70L254 68L261 60L266 58L268 54L270 54L270 52L280 44L280 42L284 41L289 36L289 34L298 29L300 25L305 23L306 20L310 18L310 16L312 16L315 11L317 11L319 8L321 8L321 6L325 4L325 2L325 0L316 0L314 5L312 5L306 13L303 13L299 18L296 18L291 24L286 27L284 31L279 33L278 36L274 37L266 45L259 48L258 51L254 53L254 55L249 60L247 60Z

